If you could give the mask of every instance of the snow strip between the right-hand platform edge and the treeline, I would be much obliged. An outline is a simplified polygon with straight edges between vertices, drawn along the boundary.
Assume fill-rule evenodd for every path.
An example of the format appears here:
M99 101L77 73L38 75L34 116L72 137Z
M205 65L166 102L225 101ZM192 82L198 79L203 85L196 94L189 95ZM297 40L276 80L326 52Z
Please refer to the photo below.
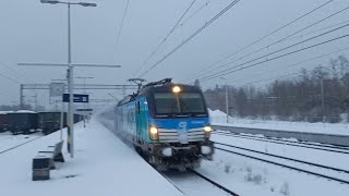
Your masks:
M309 122L289 122L289 121L262 121L262 120L237 119L231 117L229 117L229 123L227 123L227 115L222 111L219 111L219 110L215 110L215 111L208 110L208 111L209 111L209 118L210 118L212 124L214 125L349 135L348 123L332 124L332 123L309 123Z

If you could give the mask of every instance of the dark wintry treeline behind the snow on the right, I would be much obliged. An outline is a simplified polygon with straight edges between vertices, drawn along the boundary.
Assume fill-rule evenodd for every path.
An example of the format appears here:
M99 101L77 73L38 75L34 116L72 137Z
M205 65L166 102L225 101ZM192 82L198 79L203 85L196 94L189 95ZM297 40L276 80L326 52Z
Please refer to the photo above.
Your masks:
M198 82L195 82L198 85ZM264 120L348 121L349 60L332 59L326 66L301 70L292 79L276 79L265 87L228 84L229 114ZM210 109L226 111L226 86L204 91Z

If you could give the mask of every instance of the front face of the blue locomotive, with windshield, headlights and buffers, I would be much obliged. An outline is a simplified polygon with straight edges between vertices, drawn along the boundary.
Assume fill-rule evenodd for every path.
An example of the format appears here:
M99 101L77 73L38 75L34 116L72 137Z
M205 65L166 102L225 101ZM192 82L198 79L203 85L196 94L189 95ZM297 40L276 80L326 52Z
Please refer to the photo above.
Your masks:
M202 158L212 160L212 127L200 88L172 83L155 86L147 101L151 163L197 168Z

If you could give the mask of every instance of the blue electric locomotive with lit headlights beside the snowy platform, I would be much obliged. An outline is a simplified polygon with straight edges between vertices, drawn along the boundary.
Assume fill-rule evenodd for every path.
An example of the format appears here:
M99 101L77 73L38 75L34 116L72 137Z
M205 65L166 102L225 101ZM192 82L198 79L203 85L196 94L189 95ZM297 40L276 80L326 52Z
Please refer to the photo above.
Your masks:
M113 132L158 170L213 160L213 131L202 90L171 78L142 85L115 108Z

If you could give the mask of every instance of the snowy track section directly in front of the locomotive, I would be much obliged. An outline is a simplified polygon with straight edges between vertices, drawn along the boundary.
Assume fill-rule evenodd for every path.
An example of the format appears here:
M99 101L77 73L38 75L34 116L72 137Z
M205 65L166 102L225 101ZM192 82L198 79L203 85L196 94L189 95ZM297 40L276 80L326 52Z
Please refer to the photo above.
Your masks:
M188 170L186 172L160 172L160 174L184 195L239 196L237 193L195 170ZM216 188L213 189L212 186Z

